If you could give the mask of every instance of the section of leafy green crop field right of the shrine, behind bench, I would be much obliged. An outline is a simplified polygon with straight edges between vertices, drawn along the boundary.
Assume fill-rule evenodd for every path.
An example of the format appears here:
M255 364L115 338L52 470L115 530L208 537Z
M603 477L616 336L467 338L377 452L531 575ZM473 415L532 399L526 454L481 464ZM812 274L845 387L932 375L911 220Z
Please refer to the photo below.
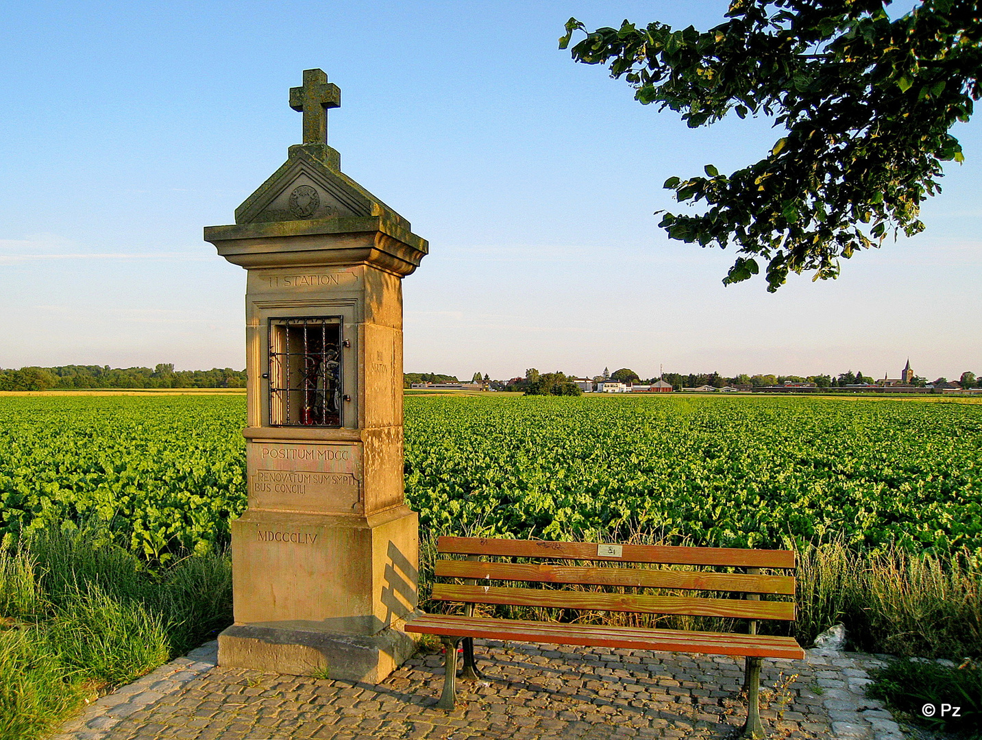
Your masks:
M407 492L439 530L982 548L980 404L529 396L406 409Z

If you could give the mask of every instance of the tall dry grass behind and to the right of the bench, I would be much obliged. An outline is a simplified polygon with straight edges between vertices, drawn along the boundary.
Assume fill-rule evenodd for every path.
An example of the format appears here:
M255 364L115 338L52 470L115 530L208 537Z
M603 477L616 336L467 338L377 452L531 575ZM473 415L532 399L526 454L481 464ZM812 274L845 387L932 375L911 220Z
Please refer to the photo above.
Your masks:
M419 538L420 599L424 608L434 611L448 608L444 604L425 603L433 583L438 536L439 533L424 530ZM637 533L623 540L601 534L597 541L658 544L654 537ZM843 543L806 545L797 553L795 575L795 621L791 625L758 622L762 633L792 634L801 645L809 646L821 632L842 622L850 646L856 650L922 658L982 656L982 566L967 552L942 557L913 555L894 548L868 554L854 551ZM718 596L701 592L686 595ZM509 617L524 615L707 631L745 630L745 623L740 620L718 617L533 608L478 607L478 610Z

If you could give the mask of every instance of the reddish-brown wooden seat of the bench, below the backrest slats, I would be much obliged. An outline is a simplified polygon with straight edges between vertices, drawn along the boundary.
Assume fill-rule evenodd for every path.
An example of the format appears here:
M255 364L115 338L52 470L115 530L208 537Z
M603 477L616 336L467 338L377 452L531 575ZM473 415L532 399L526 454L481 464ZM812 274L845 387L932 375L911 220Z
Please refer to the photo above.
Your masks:
M633 650L703 653L719 656L803 659L791 637L682 632L671 629L609 627L602 624L560 624L519 619L423 614L406 625L408 632L491 640L518 640L554 645L602 646Z

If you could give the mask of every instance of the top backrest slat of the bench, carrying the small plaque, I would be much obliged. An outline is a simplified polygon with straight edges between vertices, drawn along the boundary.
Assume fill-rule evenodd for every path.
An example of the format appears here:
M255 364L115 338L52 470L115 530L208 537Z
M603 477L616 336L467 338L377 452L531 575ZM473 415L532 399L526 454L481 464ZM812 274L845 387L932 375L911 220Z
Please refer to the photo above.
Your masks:
M731 565L754 568L793 568L791 550L743 548L678 548L660 545L624 545L621 557L597 555L596 543L546 540L499 540L490 537L441 537L437 552L455 555L549 557L568 560L658 562L677 565Z

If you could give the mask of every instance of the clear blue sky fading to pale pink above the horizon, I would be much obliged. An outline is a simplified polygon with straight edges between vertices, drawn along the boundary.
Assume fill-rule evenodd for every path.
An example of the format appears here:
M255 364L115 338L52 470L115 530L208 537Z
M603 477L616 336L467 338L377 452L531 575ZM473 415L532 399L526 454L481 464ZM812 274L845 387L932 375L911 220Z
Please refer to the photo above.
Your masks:
M933 379L982 374L982 135L927 232L843 277L724 288L670 241L661 184L759 159L765 121L686 129L557 38L721 2L8 3L0 24L0 366L242 367L245 273L202 241L300 141L288 88L342 88L342 169L431 253L405 281L407 371L527 367Z

